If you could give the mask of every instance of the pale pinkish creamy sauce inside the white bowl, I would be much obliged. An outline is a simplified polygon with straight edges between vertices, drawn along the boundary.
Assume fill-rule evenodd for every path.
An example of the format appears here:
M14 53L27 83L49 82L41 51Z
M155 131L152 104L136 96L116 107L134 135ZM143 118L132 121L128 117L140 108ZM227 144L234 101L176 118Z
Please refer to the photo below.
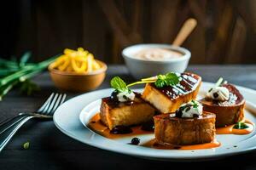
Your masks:
M145 48L134 55L137 59L145 60L170 60L182 56L183 54L168 48Z

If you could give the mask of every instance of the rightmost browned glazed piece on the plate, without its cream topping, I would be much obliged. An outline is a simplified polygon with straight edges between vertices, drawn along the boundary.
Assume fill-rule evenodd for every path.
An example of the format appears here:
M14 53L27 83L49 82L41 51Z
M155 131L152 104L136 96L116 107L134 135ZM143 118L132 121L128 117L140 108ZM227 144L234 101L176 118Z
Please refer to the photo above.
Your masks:
M216 101L208 98L200 100L203 111L216 114L216 127L232 125L244 118L245 99L239 90L231 84L224 84L222 87L228 88L230 91L229 100Z

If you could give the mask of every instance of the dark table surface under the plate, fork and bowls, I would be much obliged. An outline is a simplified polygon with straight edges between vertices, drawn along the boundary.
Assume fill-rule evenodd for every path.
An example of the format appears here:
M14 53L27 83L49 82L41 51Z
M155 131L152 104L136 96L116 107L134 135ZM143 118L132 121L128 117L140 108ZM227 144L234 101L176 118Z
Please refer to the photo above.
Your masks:
M231 83L256 89L256 65L191 65L193 71L206 82L215 82L222 76ZM109 88L111 77L119 75L128 82L134 81L124 65L108 67L108 76L100 88ZM41 91L30 97L14 90L0 102L0 120L14 116L20 111L36 111L51 92L57 91L48 73L34 78ZM99 89L100 89L99 88ZM68 98L78 94L68 94ZM256 99L256 97L255 97ZM28 150L22 144L30 142ZM256 141L255 141L256 144ZM196 169L256 169L256 151L239 156L230 156L218 161L204 162L164 162L149 161L99 150L61 133L52 121L31 120L20 129L15 137L0 153L0 169L148 169L159 167L189 167ZM177 168L177 167L176 167Z

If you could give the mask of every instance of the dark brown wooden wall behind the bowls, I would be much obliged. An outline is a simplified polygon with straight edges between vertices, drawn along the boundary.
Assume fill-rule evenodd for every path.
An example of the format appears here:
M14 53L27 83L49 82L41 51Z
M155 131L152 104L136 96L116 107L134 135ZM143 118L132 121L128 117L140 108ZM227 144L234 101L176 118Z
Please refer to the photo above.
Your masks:
M9 0L1 2L0 57L33 60L83 47L108 63L142 42L172 43L183 21L198 26L183 47L192 64L256 63L255 0Z

